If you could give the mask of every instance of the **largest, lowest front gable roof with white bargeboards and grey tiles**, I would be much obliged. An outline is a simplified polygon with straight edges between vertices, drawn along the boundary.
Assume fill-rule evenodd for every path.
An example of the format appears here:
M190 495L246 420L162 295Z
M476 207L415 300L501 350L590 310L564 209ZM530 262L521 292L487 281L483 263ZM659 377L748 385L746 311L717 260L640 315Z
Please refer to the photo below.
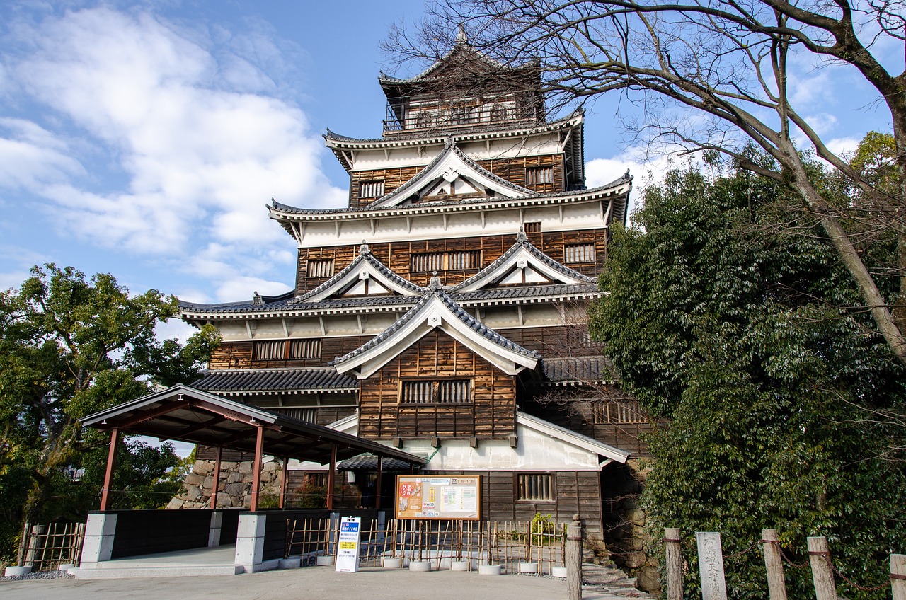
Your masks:
M511 342L479 323L443 291L439 279L433 278L418 305L383 333L338 357L331 365L339 373L351 373L365 379L435 328L509 375L535 369L540 358L534 350Z

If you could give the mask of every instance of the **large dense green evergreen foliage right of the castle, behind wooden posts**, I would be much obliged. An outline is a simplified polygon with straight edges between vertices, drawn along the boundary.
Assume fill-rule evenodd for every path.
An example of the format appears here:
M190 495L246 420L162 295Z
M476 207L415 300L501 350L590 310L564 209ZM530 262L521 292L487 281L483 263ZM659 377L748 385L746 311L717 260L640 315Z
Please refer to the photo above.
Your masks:
M833 247L794 195L746 172L671 172L634 219L613 234L592 330L665 420L642 501L654 539L683 531L688 597L695 531L721 532L735 598L766 597L760 549L743 552L762 528L778 530L792 561L790 597L814 597L809 570L794 566L807 563L808 536L828 537L841 576L884 585L889 553L906 552L904 431L892 418L906 373ZM884 260L896 248L872 245ZM850 598L889 595L837 583Z

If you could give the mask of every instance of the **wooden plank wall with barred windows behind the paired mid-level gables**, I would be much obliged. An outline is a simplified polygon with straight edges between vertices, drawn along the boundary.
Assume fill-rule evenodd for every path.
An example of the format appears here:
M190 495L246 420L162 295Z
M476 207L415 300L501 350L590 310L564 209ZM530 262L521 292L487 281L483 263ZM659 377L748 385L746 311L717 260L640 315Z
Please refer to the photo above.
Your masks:
M568 244L593 243L595 245L595 262L570 265L576 271L587 276L596 276L604 267L607 255L607 232L602 229L584 229L581 231L552 231L528 234L528 239L536 247L554 260L564 262L564 246ZM370 245L371 254L399 276L409 279L418 285L428 285L432 275L427 272L412 273L411 258L419 252L452 252L478 251L481 265L472 269L439 271L438 276L444 285L456 285L474 276L485 266L490 265L506 250L516 243L516 232L508 236L457 237L431 240L402 240L388 244ZM358 256L359 246L300 248L296 271L296 294L304 294L327 280L326 277L307 276L309 259L333 258L333 272L339 273L349 266Z

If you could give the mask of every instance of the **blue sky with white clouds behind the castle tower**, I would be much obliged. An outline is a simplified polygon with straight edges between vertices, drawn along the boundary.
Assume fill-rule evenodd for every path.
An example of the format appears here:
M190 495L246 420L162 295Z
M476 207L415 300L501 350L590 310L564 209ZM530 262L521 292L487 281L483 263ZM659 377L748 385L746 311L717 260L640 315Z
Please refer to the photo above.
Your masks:
M342 206L347 176L321 135L380 136L378 44L421 10L5 0L0 288L54 262L197 302L286 291L294 244L265 202ZM889 131L858 77L816 66L801 65L796 98L834 147ZM631 108L613 98L590 109L590 186L662 169L623 141L618 111Z

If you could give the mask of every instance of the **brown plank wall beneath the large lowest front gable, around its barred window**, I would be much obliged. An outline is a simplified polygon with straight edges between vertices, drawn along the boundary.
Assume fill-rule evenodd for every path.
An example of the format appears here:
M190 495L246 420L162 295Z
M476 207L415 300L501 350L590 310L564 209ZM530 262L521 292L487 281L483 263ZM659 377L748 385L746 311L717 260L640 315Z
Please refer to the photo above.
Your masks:
M470 404L400 404L400 379L473 379ZM499 438L516 431L516 382L435 329L361 382L359 435Z

